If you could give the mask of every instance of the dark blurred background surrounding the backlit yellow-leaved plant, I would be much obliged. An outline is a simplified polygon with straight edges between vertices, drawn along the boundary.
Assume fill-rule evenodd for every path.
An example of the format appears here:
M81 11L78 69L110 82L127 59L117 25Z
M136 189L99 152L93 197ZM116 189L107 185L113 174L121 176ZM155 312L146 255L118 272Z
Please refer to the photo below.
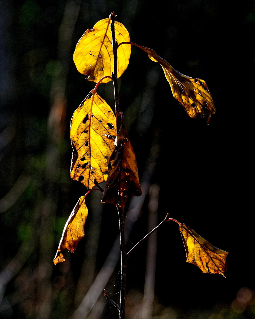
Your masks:
M255 3L215 0L2 1L0 316L118 317L102 294L106 288L119 302L118 245L107 263L115 271L96 289L99 299L88 293L118 234L117 211L100 203L99 192L87 197L86 235L77 251L53 265L65 222L85 193L69 177L69 123L95 85L78 73L72 55L82 34L113 10L131 41L155 49L179 72L205 80L216 107L209 125L189 118L160 65L131 48L119 79L120 106L143 197L127 210L137 220L127 247L147 233L154 207L158 223L169 211L230 253L226 278L205 275L185 263L178 225L164 225L157 232L153 318L254 318ZM98 93L114 106L112 84L99 85ZM128 262L127 318L142 318L145 267L143 243Z

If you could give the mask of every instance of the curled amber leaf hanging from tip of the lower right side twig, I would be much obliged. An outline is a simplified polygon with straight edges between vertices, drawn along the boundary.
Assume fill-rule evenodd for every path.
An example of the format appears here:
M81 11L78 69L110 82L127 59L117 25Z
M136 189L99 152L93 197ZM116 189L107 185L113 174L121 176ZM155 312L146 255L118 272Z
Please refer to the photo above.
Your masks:
M179 226L179 230L186 250L186 262L198 266L203 273L224 276L229 253L214 247L183 223Z

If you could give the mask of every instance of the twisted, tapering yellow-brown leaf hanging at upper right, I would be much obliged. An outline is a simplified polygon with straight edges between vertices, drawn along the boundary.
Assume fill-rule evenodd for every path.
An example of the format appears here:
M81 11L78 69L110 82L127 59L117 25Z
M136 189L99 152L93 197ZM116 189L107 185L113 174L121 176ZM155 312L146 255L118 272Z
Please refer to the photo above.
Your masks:
M178 72L154 50L143 48L152 61L161 64L173 97L182 104L188 115L192 118L205 118L208 123L211 115L215 113L215 106L205 81Z

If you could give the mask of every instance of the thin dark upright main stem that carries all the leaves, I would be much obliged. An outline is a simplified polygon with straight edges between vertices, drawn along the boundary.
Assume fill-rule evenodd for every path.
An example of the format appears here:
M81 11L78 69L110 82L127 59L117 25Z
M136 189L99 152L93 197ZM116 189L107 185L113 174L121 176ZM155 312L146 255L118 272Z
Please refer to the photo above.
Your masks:
M115 100L115 115L116 115L116 128L117 133L120 130L122 116L118 116L120 113L119 106L119 91L118 91L118 74L117 74L117 50L118 43L115 41L115 14L114 12L110 15L112 41L113 41L113 87L114 87L114 100ZM126 301L126 271L127 271L127 254L125 246L125 231L124 231L124 212L122 207L117 207L119 214L119 225L120 225L120 252L121 252L121 280L120 280L120 319L125 319L125 301Z

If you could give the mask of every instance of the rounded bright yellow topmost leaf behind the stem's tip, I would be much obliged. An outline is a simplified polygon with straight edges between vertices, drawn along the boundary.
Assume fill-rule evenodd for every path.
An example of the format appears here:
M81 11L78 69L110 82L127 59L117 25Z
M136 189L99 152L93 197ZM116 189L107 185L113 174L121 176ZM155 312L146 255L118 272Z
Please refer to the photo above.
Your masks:
M113 72L113 46L110 19L98 21L93 29L88 29L78 41L73 59L77 70L88 76L87 80L98 82L106 75ZM127 29L123 24L115 21L115 40L118 42L130 42ZM127 69L131 54L131 45L123 44L118 48L118 78ZM110 78L102 80L103 83Z

